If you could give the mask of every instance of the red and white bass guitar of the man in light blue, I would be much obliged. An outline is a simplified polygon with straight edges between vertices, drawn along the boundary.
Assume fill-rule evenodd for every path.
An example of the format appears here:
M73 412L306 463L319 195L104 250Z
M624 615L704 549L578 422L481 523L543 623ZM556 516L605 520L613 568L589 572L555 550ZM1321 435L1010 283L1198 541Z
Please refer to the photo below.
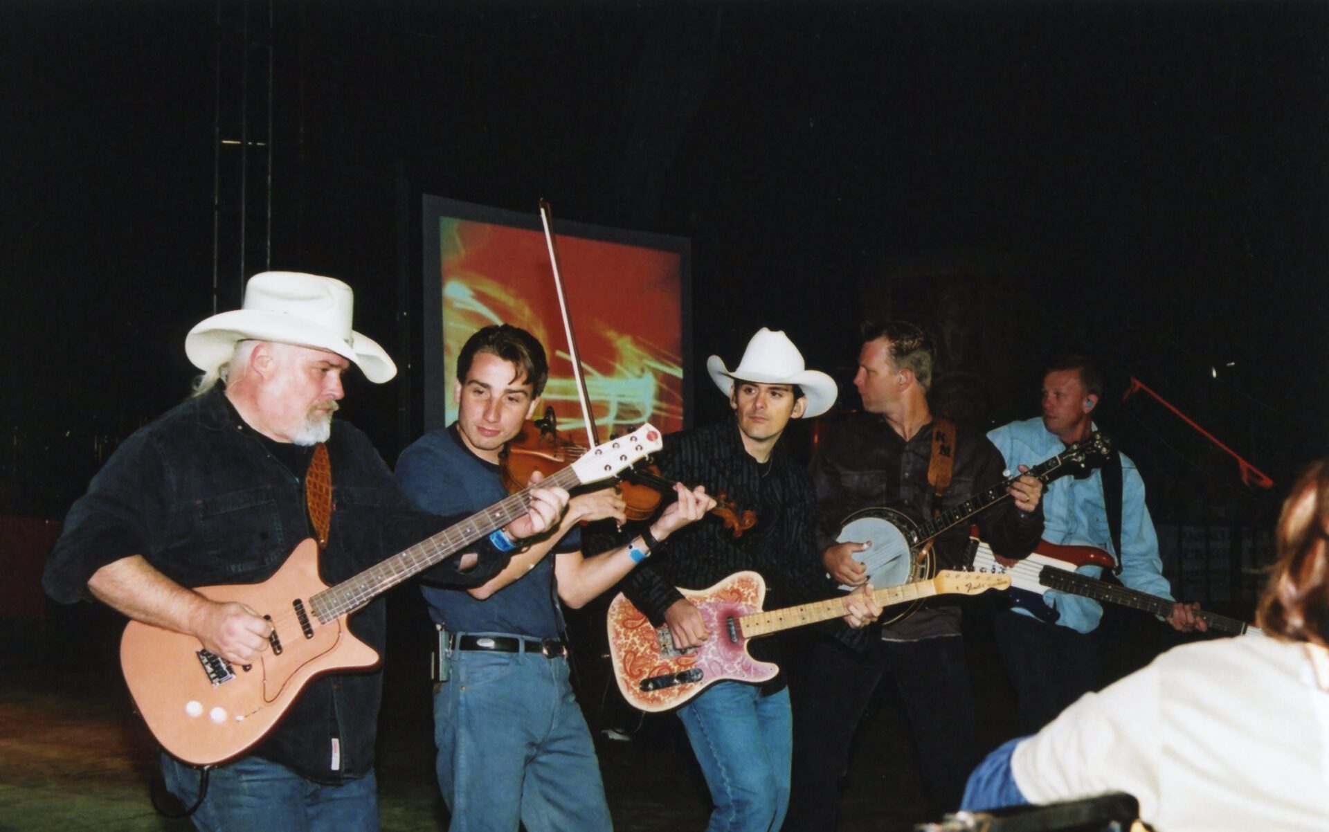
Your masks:
M1128 606L1132 610L1144 610L1167 618L1172 614L1172 605L1176 601L1160 598L1138 589L1107 583L1098 578L1075 572L1079 566L1102 566L1111 569L1115 565L1112 556L1096 546L1061 546L1046 540L1038 541L1034 552L1014 566L1005 566L998 562L991 548L978 540L970 538L970 548L974 550L973 568L975 572L1010 575L1009 598L1015 606L1029 610L1035 618L1047 623L1055 623L1061 613L1043 603L1043 594L1050 589L1073 595L1083 595L1095 601L1108 601ZM1203 618L1211 630L1244 635L1247 633L1264 634L1264 630L1236 618L1216 615L1207 610L1196 613Z

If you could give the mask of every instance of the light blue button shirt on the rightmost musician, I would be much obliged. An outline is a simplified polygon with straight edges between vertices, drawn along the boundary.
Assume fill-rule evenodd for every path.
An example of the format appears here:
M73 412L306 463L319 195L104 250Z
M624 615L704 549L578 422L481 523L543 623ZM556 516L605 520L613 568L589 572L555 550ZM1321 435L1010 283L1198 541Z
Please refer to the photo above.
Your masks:
M1017 465L1033 468L1066 449L1062 440L1043 427L1042 419L1013 421L989 432L987 439L1001 451L1011 472ZM1163 561L1159 560L1159 538L1144 505L1144 480L1135 463L1124 453L1120 457L1122 552L1118 560L1122 572L1118 578L1131 589L1171 601L1172 590L1163 577ZM1043 490L1043 540L1061 545L1098 546L1116 554L1112 532L1107 525L1102 472L1095 469L1083 480L1065 476L1047 485ZM1102 569L1082 566L1076 572L1098 578ZM1047 590L1043 602L1061 614L1058 625L1079 633L1092 631L1103 617L1103 607L1096 601L1080 595ZM1030 614L1019 607L1014 611Z

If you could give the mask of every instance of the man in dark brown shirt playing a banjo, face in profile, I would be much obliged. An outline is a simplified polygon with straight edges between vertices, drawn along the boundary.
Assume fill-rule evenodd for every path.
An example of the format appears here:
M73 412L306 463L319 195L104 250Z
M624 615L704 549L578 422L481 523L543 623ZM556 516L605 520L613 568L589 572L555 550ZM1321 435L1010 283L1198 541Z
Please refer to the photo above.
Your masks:
M823 439L811 468L821 565L837 583L857 586L868 579L853 556L868 552L872 541L840 540L849 514L890 506L930 520L934 510L960 506L1002 481L1001 453L982 433L933 417L926 392L934 360L932 339L912 323L892 320L863 330L853 383L864 412ZM949 482L934 476L934 457L950 460ZM1042 485L1022 476L1009 490L1011 500L979 513L975 522L994 550L1023 557L1043 530ZM968 529L969 524L957 524L936 538L938 568L968 565ZM901 577L898 582L910 575ZM839 780L878 684L896 687L904 702L929 804L926 819L960 805L977 756L974 695L954 602L938 597L909 618L853 635L863 638L812 639L793 680L795 793L785 824L791 831L835 828Z

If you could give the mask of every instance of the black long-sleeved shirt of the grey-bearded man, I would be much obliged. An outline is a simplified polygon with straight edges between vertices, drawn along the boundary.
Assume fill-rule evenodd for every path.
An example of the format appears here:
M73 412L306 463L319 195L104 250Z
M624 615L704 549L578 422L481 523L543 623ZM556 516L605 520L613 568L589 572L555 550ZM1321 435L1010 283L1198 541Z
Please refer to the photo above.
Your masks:
M352 425L334 421L327 447L334 512L324 582L448 525L407 501ZM303 474L243 428L221 389L185 401L125 440L69 509L43 577L47 593L62 603L90 598L93 573L132 554L183 586L266 581L310 537ZM476 550L476 569L462 574L449 560L428 570L431 579L478 585L508 562L488 542ZM381 598L351 617L351 630L380 654L384 618ZM373 766L380 696L379 671L322 676L253 754L320 783L363 776Z

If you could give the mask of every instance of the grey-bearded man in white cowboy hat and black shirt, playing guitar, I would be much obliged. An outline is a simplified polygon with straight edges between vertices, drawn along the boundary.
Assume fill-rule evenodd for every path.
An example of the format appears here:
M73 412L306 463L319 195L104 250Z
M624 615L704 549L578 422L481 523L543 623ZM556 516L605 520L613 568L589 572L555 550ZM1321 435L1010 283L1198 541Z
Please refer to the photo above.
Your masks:
M308 537L320 544L322 578L336 583L445 528L397 490L363 433L332 421L352 364L375 383L396 375L383 348L351 330L351 307L340 280L263 272L243 308L194 327L185 351L205 373L195 395L125 440L74 502L47 591L66 603L97 598L253 666L276 650L275 625L189 587L266 581ZM567 500L561 489L533 494L506 533L431 578L476 585L501 570L514 538L550 528ZM381 655L381 599L350 626ZM171 682L163 669L161 683ZM186 805L199 801L199 829L377 829L380 688L379 673L315 679L245 756L199 771L162 754L166 784Z

